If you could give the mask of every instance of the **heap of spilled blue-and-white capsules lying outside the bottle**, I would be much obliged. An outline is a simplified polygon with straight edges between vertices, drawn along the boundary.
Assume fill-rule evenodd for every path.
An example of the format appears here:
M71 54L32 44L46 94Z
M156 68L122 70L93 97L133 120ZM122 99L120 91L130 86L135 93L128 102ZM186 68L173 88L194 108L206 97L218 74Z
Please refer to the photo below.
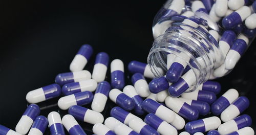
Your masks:
M249 100L239 97L236 89L229 89L217 99L216 95L221 91L220 84L206 81L197 91L179 98L169 96L167 90L155 94L144 78L154 78L146 63L129 63L133 85L125 86L124 64L119 59L111 62L110 84L104 81L109 64L108 54L97 54L92 75L83 70L92 53L90 45L83 45L70 65L72 72L58 74L54 84L30 91L26 99L31 104L17 123L15 131L0 125L0 134L39 135L44 134L47 127L51 134L65 134L64 127L71 135L86 134L77 120L93 124L92 130L98 135L172 135L178 134L178 130L183 128L185 131L180 133L183 135L207 131L207 134L254 134L249 127L252 123L250 116L241 115L249 107ZM48 118L39 116L40 108L36 103L60 97L61 94L63 97L58 99L58 107L68 109L69 114L62 119L56 111L52 111ZM117 106L111 109L111 117L104 119L101 112L108 98ZM90 103L91 109L82 107ZM199 115L205 116L210 110L214 116L197 120ZM221 124L220 118L216 116L220 116L224 123ZM214 130L217 128L218 131Z

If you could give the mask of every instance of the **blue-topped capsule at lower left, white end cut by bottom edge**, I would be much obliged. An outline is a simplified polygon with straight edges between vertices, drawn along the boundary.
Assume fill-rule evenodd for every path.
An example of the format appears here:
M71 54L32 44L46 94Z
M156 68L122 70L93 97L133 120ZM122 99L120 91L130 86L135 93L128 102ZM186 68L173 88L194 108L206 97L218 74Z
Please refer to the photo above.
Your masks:
M29 131L29 135L34 135L34 134L42 135L45 133L47 126L48 126L47 118L44 116L37 116Z

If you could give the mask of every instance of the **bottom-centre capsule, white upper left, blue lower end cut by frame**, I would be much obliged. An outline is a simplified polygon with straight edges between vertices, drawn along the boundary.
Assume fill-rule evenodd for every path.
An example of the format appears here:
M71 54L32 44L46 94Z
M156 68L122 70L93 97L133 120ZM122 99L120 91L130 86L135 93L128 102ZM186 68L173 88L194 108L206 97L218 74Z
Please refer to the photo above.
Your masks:
M133 118L129 122L129 127L134 129L137 133L141 135L159 135L157 130L155 130L153 127L147 125L145 122L143 122L139 118Z

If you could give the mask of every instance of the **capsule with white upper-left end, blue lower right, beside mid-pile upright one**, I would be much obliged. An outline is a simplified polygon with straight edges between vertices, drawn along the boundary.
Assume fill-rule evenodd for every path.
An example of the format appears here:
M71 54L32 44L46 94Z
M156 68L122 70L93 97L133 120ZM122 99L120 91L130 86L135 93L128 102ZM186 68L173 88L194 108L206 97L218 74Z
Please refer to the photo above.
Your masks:
M135 107L133 99L125 95L119 89L112 89L109 93L109 97L111 101L125 110L132 110Z

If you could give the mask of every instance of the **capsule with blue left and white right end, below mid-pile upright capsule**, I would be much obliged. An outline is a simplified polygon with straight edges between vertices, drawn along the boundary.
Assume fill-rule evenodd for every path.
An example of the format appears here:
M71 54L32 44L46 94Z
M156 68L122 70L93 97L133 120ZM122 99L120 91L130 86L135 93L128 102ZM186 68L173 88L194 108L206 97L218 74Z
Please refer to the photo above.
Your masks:
M78 105L71 106L69 108L69 114L79 121L87 122L90 124L102 123L104 121L102 114Z

